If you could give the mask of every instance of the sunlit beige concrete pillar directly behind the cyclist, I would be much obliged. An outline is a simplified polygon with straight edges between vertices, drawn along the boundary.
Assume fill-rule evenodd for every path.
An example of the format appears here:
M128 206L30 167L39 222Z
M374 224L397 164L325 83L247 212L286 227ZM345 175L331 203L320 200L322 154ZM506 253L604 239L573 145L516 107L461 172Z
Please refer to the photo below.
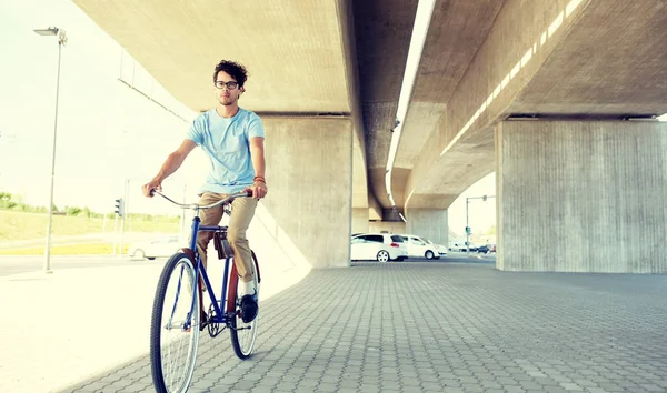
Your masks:
M285 117L262 120L269 194L258 208L251 228L255 232L249 233L252 248L260 258L261 249L280 250L290 261L313 269L348 266L352 121ZM251 234L258 232L262 236L256 241ZM272 259L267 258L263 260Z

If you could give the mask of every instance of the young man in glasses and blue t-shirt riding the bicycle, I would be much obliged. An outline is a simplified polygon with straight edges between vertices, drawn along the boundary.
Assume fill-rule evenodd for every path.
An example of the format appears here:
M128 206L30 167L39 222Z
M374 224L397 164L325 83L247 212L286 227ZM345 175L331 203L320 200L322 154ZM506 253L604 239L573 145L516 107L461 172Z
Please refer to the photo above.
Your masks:
M231 220L227 238L235 253L239 273L239 298L243 320L257 315L256 289L252 280L252 256L246 231L255 215L257 202L267 194L265 180L265 132L261 119L251 111L239 108L239 98L246 91L247 71L241 64L222 60L213 72L213 85L218 104L201 113L190 127L186 140L169 154L158 174L143 185L143 194L161 190L162 181L176 172L186 157L201 147L210 160L210 171L200 189L200 204L210 204L229 194L243 190L252 191L252 198L238 198L231 203ZM218 225L222 219L222 206L201 211L201 225ZM199 232L197 250L206 266L208 243L212 232ZM249 321L246 321L249 322Z

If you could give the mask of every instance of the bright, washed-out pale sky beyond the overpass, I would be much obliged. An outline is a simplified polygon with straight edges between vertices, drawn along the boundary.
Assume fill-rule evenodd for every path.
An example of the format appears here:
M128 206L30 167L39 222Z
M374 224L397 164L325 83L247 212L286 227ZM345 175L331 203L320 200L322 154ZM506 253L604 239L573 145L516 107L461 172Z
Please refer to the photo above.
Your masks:
M166 201L141 196L140 185L180 144L196 113L169 95L70 0L0 2L0 191L20 194L29 204L48 205L58 41L33 29L51 26L68 34L61 59L54 204L112 212L113 200L122 196L126 179L130 179L129 211L178 213ZM163 183L165 192L182 198L186 191L192 201L206 177L201 168L207 167L196 149ZM450 206L451 231L464 233L466 196L485 194L495 194L494 173ZM469 208L474 231L495 224L494 200L476 200Z

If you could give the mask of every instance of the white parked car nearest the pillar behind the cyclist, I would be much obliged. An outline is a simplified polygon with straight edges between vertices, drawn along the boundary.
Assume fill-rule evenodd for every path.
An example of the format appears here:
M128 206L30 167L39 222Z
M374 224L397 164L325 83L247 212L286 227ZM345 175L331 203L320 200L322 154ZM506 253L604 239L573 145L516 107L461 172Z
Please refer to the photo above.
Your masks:
M388 262L402 261L407 258L408 248L402 238L397 234L361 233L351 239L350 259L352 261Z

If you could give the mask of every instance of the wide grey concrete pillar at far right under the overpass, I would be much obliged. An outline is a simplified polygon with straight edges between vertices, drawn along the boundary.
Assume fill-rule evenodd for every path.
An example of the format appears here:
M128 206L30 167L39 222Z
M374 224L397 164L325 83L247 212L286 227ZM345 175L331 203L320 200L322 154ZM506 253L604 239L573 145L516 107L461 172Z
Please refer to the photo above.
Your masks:
M496 163L498 269L667 273L667 123L506 121Z

